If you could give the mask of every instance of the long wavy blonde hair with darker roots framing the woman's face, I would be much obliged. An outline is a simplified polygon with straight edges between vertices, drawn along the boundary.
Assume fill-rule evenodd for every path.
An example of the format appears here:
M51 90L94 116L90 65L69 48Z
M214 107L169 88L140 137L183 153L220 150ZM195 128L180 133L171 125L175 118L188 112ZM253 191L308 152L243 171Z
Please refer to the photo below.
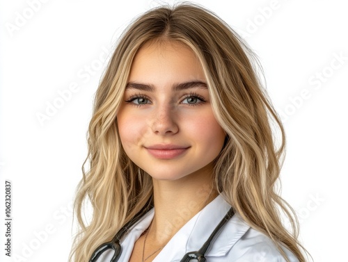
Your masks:
M136 52L154 41L186 44L203 66L216 120L227 134L214 166L216 190L251 227L274 240L287 261L280 244L305 261L303 247L296 239L296 215L275 192L285 135L262 89L252 63L253 52L214 13L191 3L149 10L118 42L95 95L88 128L86 161L90 169L84 171L75 199L81 230L70 261L88 261L95 248L111 240L136 213L152 204L151 177L122 149L116 116ZM281 133L278 148L271 121ZM93 207L88 225L83 219L86 200ZM283 226L279 210L290 220L292 233Z

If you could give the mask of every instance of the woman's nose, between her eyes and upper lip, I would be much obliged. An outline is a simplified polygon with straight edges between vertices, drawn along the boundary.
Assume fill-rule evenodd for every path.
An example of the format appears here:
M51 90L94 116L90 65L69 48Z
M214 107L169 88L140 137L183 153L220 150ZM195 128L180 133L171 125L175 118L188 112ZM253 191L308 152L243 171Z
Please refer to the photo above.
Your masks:
M179 131L177 113L171 106L159 106L155 109L151 124L152 131L157 135L167 136Z

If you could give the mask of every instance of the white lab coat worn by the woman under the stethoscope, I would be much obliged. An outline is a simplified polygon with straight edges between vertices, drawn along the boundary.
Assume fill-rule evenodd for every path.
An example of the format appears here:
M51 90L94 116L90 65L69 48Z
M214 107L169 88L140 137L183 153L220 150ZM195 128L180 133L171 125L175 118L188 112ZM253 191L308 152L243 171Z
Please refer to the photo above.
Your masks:
M216 197L177 231L153 261L180 261L187 252L200 249L229 209L230 205L220 195ZM149 227L154 213L152 209L125 236L118 261L129 261L134 243ZM285 247L284 251L291 262L298 262L292 252ZM111 254L104 252L98 262L109 262L111 257ZM285 262L271 239L249 227L238 215L233 215L225 224L207 249L205 257L207 262Z

